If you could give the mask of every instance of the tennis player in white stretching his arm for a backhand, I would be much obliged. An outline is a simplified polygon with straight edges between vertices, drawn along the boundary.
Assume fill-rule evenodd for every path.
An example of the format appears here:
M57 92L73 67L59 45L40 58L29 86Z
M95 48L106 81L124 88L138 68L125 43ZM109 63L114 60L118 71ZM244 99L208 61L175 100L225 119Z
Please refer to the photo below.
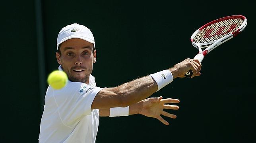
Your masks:
M169 123L160 115L175 119L176 115L163 109L178 109L177 99L147 98L184 77L188 70L200 75L201 64L186 59L172 68L124 83L118 87L100 88L91 75L96 62L95 41L91 31L79 24L60 30L57 38L58 69L68 75L66 87L48 87L40 125L40 143L95 143L100 116L128 116L142 114L163 124ZM146 99L147 98L147 99Z

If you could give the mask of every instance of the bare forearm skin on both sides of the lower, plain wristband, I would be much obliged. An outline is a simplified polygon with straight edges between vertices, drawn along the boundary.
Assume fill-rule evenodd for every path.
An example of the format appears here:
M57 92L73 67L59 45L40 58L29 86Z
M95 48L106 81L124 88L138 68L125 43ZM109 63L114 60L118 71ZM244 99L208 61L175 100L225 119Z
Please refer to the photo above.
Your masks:
M137 102L129 106L129 115L139 114L142 109L142 103ZM99 116L109 117L110 109L99 109Z

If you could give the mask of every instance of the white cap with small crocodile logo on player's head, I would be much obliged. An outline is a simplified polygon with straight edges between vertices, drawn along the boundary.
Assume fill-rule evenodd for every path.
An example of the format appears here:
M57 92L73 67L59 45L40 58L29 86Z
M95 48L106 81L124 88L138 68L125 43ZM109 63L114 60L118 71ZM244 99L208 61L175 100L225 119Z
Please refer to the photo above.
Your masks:
M93 34L92 34L91 30L83 25L73 23L71 25L63 27L60 30L60 32L58 34L58 38L57 38L57 50L58 50L59 45L62 42L72 39L72 38L83 39L85 41L93 43L93 45L95 47L95 41L94 41Z

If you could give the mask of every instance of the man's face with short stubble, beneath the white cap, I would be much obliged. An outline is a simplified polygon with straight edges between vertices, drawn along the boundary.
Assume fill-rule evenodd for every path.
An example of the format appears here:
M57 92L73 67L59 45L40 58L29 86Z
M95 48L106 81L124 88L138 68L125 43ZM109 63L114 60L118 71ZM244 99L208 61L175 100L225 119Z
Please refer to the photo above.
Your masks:
M89 76L96 62L93 44L79 38L64 41L56 53L57 61L67 73L70 81L89 84Z

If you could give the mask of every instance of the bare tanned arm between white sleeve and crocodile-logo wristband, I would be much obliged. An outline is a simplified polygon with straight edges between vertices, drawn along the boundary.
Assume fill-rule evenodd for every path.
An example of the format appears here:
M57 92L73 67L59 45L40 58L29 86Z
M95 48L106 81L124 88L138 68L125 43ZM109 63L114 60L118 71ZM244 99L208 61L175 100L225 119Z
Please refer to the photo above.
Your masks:
M152 77L142 77L115 88L104 88L96 95L91 108L127 107L149 97L156 90L157 83Z

